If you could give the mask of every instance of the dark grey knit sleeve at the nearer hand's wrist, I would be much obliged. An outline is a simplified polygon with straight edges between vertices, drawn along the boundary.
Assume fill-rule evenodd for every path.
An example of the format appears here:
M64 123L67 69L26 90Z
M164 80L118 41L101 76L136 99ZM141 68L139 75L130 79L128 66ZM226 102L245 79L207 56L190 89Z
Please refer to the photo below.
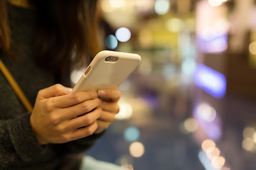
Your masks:
M0 120L0 169L18 169L22 162L28 162L45 152L30 124L31 113L15 119Z

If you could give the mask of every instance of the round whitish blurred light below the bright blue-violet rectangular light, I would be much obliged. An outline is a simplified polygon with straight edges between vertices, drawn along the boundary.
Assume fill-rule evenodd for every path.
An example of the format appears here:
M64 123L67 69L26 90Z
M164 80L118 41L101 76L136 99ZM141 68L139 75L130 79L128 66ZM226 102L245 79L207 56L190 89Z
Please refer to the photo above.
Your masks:
M206 103L203 103L200 106L198 106L197 114L198 116L203 118L203 120L206 120L208 122L212 122L216 118L215 109Z

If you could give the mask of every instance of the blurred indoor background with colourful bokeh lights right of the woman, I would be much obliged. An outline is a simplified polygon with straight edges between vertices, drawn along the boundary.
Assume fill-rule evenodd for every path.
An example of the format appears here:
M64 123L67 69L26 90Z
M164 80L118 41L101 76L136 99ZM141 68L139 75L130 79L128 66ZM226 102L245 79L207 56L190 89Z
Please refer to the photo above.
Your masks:
M256 169L256 1L101 0L105 50L142 62L87 155L134 170Z

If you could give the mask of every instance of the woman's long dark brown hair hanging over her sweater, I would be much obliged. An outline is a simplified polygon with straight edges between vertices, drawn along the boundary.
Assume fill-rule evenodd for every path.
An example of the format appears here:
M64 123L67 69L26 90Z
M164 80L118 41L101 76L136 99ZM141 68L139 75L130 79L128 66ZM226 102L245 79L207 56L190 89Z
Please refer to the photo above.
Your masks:
M0 50L12 57L5 1L0 0ZM100 51L97 0L33 0L32 3L38 21L35 45L38 64L63 72L70 64L80 66L86 57Z

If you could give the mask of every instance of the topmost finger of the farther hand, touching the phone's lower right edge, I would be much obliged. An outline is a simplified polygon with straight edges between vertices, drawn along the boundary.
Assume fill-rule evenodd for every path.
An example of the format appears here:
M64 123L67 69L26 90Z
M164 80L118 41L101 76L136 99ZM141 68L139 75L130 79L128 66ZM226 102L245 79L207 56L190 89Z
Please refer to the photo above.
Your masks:
M121 97L121 92L117 89L101 89L97 94L100 98L107 99L106 101L118 101Z

